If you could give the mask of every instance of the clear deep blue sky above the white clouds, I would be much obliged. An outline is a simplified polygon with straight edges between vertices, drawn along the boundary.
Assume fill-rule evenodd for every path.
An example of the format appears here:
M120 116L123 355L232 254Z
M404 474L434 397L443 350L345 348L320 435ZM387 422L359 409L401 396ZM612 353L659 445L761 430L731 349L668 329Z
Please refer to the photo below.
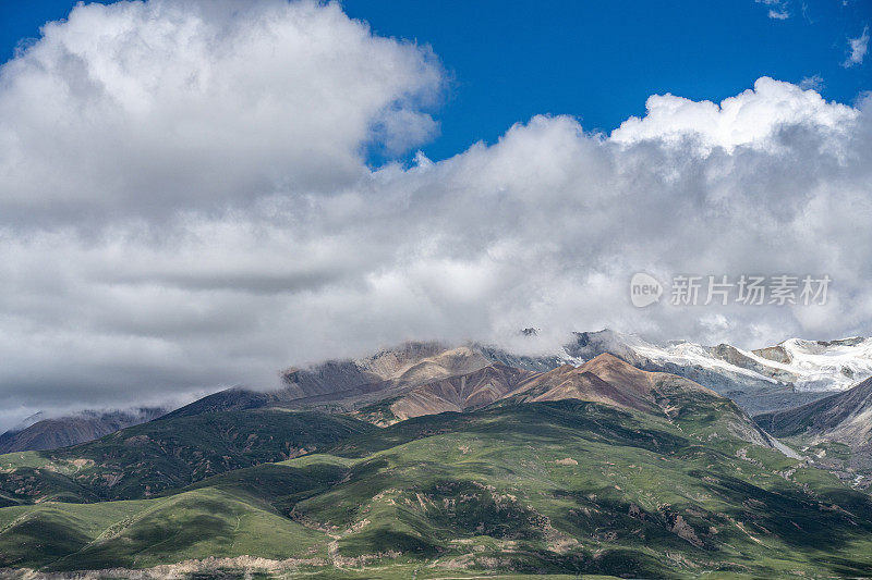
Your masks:
M0 58L64 17L70 0L3 0ZM436 111L441 134L431 159L493 143L538 113L571 114L610 131L673 92L719 101L760 76L818 76L826 99L851 103L872 88L872 64L843 66L848 39L872 23L870 0L550 3L496 0L344 0L346 12L382 36L431 45L452 84ZM786 11L785 20L770 11Z

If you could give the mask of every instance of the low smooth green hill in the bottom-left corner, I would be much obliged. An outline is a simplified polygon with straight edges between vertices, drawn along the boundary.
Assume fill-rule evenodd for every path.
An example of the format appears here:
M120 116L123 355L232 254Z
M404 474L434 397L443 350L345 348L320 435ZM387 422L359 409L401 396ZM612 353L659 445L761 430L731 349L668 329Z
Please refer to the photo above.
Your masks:
M217 489L147 501L49 503L0 511L3 566L150 567L206 555L287 558L325 552L324 533Z

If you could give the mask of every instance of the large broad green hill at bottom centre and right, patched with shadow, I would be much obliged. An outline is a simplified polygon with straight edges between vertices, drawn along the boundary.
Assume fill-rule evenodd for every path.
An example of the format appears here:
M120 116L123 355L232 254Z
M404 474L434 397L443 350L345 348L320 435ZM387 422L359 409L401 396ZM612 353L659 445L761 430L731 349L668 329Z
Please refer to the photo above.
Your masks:
M353 530L347 556L403 545L528 571L872 571L869 497L777 452L584 403L437 419L342 445L361 476L294 513Z

